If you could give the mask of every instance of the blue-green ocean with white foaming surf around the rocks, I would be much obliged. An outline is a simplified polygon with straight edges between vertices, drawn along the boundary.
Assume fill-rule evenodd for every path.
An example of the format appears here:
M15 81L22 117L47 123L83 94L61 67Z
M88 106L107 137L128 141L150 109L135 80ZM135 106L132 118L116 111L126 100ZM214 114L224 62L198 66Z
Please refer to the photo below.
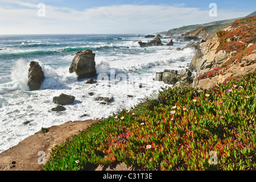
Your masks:
M170 49L187 44L177 40L172 47L139 47L138 41L151 39L127 34L0 35L0 153L42 127L107 118L167 86L153 80L155 73L187 68L195 51ZM161 40L166 44L169 38ZM75 73L69 73L75 52L85 49L95 53L94 84L85 84L87 79L78 80ZM41 89L35 91L27 86L30 61L38 61L45 74ZM102 75L109 79L103 80ZM65 105L65 111L51 111L57 106L53 97L61 93L75 96L74 103ZM95 101L99 96L114 101L102 105Z

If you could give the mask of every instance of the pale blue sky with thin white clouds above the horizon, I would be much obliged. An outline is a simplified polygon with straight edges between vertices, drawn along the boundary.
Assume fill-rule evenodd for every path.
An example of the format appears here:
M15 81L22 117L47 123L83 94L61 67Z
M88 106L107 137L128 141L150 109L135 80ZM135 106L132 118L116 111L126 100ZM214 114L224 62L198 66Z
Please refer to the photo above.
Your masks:
M241 18L255 7L255 0L0 0L0 35L154 34Z

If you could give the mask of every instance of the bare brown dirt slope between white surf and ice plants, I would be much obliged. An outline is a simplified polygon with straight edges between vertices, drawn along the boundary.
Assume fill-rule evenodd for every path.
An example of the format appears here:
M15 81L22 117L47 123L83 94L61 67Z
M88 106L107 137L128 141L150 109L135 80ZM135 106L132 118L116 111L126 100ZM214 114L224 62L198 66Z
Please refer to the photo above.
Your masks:
M0 171L40 171L42 165L38 164L38 158L42 157L42 154L38 155L39 151L45 152L47 161L51 148L95 122L98 120L69 121L60 126L50 127L46 134L38 132L27 137L17 146L0 154Z

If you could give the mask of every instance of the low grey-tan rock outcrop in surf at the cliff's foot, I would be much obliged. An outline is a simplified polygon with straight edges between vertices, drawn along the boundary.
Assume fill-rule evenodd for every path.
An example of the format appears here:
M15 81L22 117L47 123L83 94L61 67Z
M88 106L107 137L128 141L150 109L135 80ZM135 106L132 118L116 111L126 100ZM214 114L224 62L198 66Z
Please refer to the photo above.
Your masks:
M165 84L186 84L190 85L193 83L194 76L189 69L169 70L166 69L163 72L158 72L155 74L155 81L163 81Z

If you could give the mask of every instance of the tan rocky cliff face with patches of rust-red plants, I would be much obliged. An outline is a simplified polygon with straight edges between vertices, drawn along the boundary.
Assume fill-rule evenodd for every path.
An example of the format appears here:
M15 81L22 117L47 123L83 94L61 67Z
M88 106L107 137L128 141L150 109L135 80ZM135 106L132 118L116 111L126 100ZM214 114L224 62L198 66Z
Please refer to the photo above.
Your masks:
M201 40L190 68L197 72L193 86L210 88L256 71L256 16L236 20Z

